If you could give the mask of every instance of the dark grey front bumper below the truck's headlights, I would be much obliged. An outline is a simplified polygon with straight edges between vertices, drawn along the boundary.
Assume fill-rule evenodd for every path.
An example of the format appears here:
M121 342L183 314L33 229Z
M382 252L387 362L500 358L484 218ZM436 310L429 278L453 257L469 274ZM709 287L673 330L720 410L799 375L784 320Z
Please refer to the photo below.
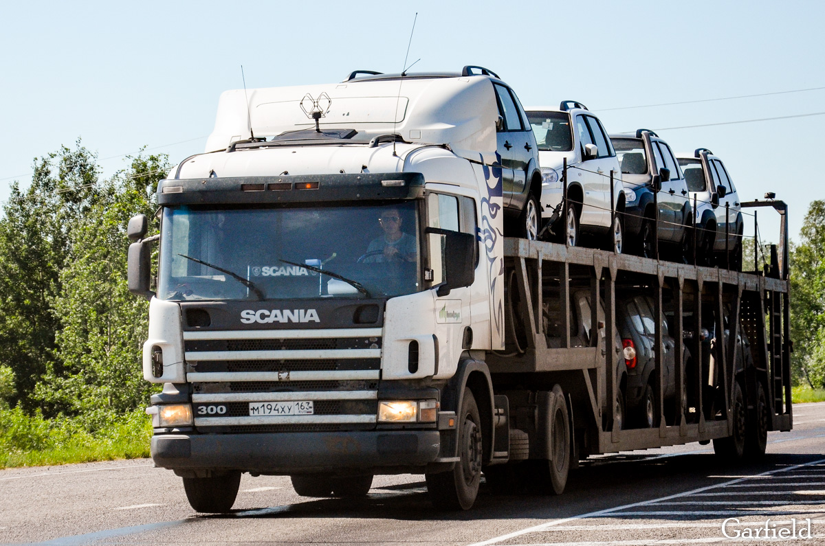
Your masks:
M431 431L174 434L152 438L152 459L170 469L309 473L342 468L424 468L436 462L441 435Z

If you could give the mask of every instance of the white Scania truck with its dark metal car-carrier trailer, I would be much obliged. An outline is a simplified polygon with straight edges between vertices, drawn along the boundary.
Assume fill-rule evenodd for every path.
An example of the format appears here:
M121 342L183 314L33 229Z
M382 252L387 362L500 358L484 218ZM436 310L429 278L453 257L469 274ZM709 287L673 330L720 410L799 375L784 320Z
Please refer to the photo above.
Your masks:
M528 236L540 216L538 165L500 153L535 153L510 130L530 127L512 91L470 67L361 74L225 92L207 152L158 185L160 233L130 222L144 375L163 384L152 457L196 511L229 511L244 472L290 475L308 497L423 473L436 506L468 509L482 473L560 493L587 454L714 439L740 457L790 428L784 273L505 239L505 215ZM623 284L651 287L672 332L724 324L690 374L676 362L686 395L656 400L656 429L621 425ZM753 358L721 342L746 312Z

